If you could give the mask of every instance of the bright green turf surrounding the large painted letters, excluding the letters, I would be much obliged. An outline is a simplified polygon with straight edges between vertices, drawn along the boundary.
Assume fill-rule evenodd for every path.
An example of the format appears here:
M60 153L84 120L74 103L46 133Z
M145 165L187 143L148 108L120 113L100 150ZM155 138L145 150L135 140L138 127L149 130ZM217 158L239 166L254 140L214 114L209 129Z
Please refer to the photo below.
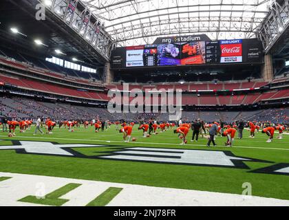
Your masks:
M105 132L94 133L94 128L76 129L69 133L66 129L55 129L52 135L32 135L32 131L19 133L17 137L8 138L0 133L0 139L5 140L35 140L41 142L58 142L60 144L105 144L112 146L93 148L74 148L84 155L104 155L113 151L116 146L145 146L159 148L188 148L207 151L231 151L239 157L252 157L277 163L289 163L289 136L283 135L283 140L275 139L266 143L268 137L257 133L255 139L248 138L246 131L243 140L235 140L233 148L224 147L225 137L217 137L216 148L206 148L206 139L199 142L189 142L180 146L180 139L173 131L167 131L149 138L142 138L142 132L135 127L133 137L137 142L123 142L122 134L114 126ZM189 133L191 137L191 131ZM108 142L109 141L109 142ZM8 145L8 141L0 142ZM168 188L183 188L206 190L211 192L228 192L242 194L242 184L250 182L253 195L289 199L289 176L248 173L250 170L271 166L268 163L245 162L250 169L217 168L205 166L187 166L175 164L156 164L148 162L123 162L104 159L85 159L47 155L19 154L11 150L0 151L0 172L47 175L53 177L69 177L109 181L124 184L140 184L145 186L160 186Z

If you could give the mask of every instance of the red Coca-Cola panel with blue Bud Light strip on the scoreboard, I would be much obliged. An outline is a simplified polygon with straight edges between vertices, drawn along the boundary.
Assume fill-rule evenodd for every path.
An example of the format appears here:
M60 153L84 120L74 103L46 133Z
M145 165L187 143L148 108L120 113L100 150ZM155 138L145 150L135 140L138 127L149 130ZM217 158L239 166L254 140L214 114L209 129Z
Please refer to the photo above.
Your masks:
M220 41L221 63L242 63L242 40Z

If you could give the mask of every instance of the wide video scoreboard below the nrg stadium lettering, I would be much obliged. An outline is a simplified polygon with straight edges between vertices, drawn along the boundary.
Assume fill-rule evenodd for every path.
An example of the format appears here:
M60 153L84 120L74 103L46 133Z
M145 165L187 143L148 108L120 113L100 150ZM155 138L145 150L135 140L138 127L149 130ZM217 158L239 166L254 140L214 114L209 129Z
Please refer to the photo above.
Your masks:
M262 45L257 39L160 42L117 47L111 53L111 68L261 63L263 60Z

